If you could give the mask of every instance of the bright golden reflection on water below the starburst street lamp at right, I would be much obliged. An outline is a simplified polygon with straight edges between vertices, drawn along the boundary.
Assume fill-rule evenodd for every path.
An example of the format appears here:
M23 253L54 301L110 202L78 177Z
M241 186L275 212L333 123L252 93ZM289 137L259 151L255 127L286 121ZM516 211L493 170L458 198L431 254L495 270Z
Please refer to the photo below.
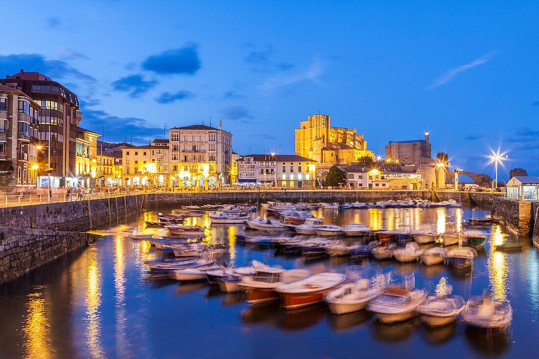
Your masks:
M490 255L487 270L495 301L507 299L507 274L509 272L507 253L496 251L496 246L503 244L506 238L507 234L502 232L502 227L499 224L493 224L490 230Z

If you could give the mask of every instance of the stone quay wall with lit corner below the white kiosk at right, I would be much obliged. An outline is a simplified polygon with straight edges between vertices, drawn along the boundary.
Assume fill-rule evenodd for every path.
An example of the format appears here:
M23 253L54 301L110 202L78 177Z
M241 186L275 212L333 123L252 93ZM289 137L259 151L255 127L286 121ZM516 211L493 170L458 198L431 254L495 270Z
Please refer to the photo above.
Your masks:
M490 215L518 234L528 236L534 230L535 217L531 202L495 198Z

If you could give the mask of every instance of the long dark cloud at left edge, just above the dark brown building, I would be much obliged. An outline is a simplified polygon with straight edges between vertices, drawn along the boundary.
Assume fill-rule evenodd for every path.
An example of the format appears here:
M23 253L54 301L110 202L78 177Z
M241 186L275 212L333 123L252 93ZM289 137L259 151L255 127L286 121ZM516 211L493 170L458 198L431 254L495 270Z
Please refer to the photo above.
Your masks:
M97 82L92 76L80 72L65 61L47 60L42 54L37 53L0 56L0 68L2 68L6 74L17 73L23 68L26 69L26 71L39 71L55 81L74 78L92 84Z

